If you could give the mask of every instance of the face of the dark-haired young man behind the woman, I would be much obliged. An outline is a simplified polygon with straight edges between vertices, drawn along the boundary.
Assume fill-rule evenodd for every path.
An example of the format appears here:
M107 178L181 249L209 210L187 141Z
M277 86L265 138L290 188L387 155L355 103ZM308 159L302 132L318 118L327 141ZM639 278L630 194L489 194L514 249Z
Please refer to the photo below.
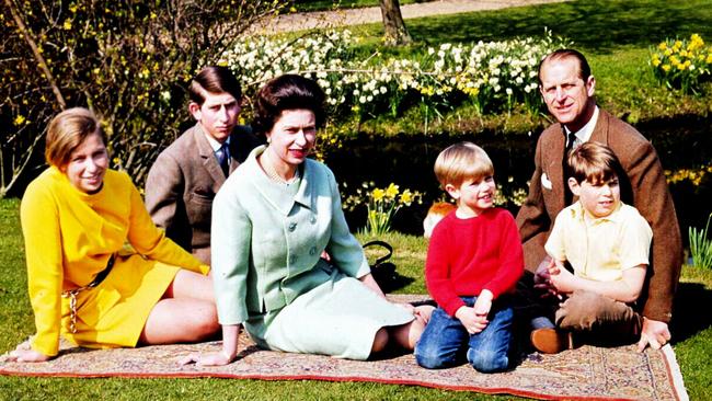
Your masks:
M204 92L205 102L198 105L191 102L188 110L193 117L200 123L203 129L222 144L232 133L240 116L240 103L230 93Z

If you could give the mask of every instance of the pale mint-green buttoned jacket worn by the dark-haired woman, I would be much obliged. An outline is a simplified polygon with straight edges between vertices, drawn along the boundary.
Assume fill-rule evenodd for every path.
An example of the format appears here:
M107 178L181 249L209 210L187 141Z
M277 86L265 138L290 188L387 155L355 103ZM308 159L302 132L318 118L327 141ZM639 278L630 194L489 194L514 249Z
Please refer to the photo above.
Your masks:
M326 283L331 270L370 272L364 250L348 231L338 186L324 164L307 159L296 191L262 171L259 147L230 175L215 198L213 279L221 324L277 311Z

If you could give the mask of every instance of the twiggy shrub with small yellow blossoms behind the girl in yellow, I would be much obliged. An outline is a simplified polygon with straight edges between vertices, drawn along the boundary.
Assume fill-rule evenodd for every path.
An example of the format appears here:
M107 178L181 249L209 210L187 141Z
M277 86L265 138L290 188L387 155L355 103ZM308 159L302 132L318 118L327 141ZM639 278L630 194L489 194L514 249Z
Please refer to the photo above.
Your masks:
M135 181L190 117L186 83L288 0L7 0L0 4L0 197L37 164L48 121L103 118L113 167ZM34 161L33 161L33 158Z

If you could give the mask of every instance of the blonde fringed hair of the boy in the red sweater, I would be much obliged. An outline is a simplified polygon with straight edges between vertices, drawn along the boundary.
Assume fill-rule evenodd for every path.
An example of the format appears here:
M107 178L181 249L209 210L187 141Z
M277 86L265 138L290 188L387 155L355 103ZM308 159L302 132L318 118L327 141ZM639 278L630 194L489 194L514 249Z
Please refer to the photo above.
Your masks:
M435 176L446 185L460 185L464 180L479 180L494 174L494 165L484 149L472 142L449 146L435 160Z

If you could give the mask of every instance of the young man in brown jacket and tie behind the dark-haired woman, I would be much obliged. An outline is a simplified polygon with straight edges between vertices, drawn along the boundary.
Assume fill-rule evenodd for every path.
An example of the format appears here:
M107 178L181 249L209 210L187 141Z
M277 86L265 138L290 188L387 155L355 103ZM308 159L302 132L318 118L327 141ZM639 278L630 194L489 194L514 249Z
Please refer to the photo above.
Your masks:
M242 91L226 67L206 67L188 88L196 124L163 150L146 181L146 207L169 238L210 263L213 198L261 144L238 125Z

